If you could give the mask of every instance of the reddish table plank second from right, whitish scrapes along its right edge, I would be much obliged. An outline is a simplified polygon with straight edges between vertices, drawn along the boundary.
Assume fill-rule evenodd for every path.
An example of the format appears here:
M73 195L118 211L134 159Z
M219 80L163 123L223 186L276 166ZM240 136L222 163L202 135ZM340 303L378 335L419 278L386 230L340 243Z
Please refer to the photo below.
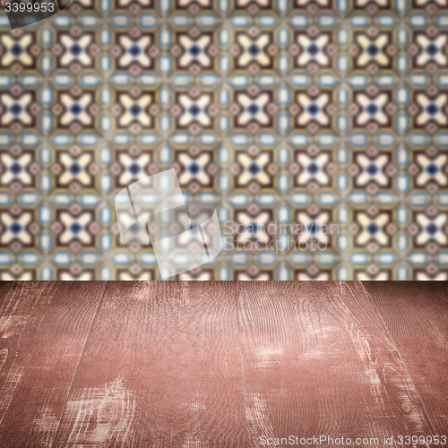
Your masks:
M238 297L250 446L263 436L366 437L363 446L377 437L384 446L392 435L432 435L359 282L253 281Z

